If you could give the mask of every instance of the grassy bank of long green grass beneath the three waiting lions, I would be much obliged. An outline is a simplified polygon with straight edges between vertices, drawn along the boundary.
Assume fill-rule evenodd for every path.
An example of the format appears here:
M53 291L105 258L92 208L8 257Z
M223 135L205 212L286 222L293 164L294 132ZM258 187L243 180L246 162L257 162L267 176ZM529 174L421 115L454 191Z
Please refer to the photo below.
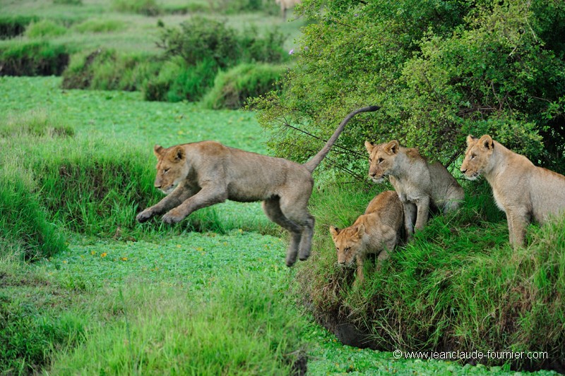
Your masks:
M547 351L545 359L475 361L526 369L564 363L565 309L559 296L565 293L565 219L532 226L528 248L514 251L504 216L489 209L490 190L473 190L458 212L432 217L389 260L366 265L368 278L359 286L352 270L336 265L328 234L330 224L350 225L362 213L359 193L350 190L314 195L315 251L308 267L299 266L301 293L323 324L333 330L340 323L352 325L366 341L357 346ZM332 214L324 209L328 205Z

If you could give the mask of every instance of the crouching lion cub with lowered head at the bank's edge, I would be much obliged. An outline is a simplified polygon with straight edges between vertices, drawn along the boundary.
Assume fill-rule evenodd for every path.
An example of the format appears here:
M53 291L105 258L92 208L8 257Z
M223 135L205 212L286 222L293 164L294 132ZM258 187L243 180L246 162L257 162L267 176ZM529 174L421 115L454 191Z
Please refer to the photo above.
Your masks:
M357 260L357 281L364 281L363 262L367 254L379 253L379 261L402 239L403 208L398 195L387 190L377 195L365 213L346 229L330 226L338 250L338 263L352 266Z

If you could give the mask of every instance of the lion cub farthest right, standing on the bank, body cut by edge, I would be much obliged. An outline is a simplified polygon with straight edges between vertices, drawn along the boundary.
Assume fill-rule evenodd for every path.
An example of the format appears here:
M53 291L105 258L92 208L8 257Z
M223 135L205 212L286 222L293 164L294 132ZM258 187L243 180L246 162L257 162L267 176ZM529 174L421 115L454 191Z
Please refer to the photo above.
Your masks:
M487 178L496 205L506 213L514 248L523 245L532 218L543 224L548 216L565 213L565 176L534 166L489 135L467 136L461 172L469 180Z

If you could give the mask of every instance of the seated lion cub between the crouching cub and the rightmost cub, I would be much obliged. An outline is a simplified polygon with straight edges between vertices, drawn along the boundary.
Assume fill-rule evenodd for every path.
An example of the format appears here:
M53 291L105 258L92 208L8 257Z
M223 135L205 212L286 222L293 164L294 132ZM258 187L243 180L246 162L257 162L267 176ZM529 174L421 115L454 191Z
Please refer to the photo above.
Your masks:
M463 188L439 162L429 164L416 149L401 147L398 141L374 145L366 141L369 152L369 176L381 183L391 181L404 209L408 238L426 226L429 207L444 213L456 210L465 198Z

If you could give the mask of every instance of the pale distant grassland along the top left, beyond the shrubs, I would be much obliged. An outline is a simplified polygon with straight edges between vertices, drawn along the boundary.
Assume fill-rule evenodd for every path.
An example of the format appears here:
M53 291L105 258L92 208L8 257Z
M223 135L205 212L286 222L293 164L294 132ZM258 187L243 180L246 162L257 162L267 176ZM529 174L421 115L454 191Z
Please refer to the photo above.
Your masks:
M133 2L133 1L132 1ZM304 20L284 22L278 13L270 14L262 11L250 11L244 13L216 12L210 9L208 1L163 1L160 8L164 13L158 16L159 20L167 28L178 26L187 16L201 14L222 20L227 26L244 30L249 25L256 25L258 32L268 32L273 25L278 25L280 31L287 35L284 48L289 51L295 48L295 38L299 35L299 28L305 25ZM162 28L157 25L157 20L143 14L122 13L117 11L112 4L113 0L86 1L81 5L76 4L54 4L52 0L1 0L2 15L11 18L22 18L25 23L30 22L29 17L52 20L63 24L70 30L64 35L49 38L54 44L64 44L71 51L93 51L97 48L117 49L126 52L148 52L157 54L160 49L155 42L159 40ZM175 11L178 9L180 11ZM182 9L189 12L182 14ZM83 30L82 23L93 25L96 20L107 20L107 23L121 25L108 32L100 32L94 26L90 30ZM1 24L1 23L0 23ZM10 25L12 25L10 23ZM25 24L24 24L25 25ZM87 29L89 29L87 28ZM27 38L23 38L25 42ZM11 44L10 40L0 40L0 47Z

